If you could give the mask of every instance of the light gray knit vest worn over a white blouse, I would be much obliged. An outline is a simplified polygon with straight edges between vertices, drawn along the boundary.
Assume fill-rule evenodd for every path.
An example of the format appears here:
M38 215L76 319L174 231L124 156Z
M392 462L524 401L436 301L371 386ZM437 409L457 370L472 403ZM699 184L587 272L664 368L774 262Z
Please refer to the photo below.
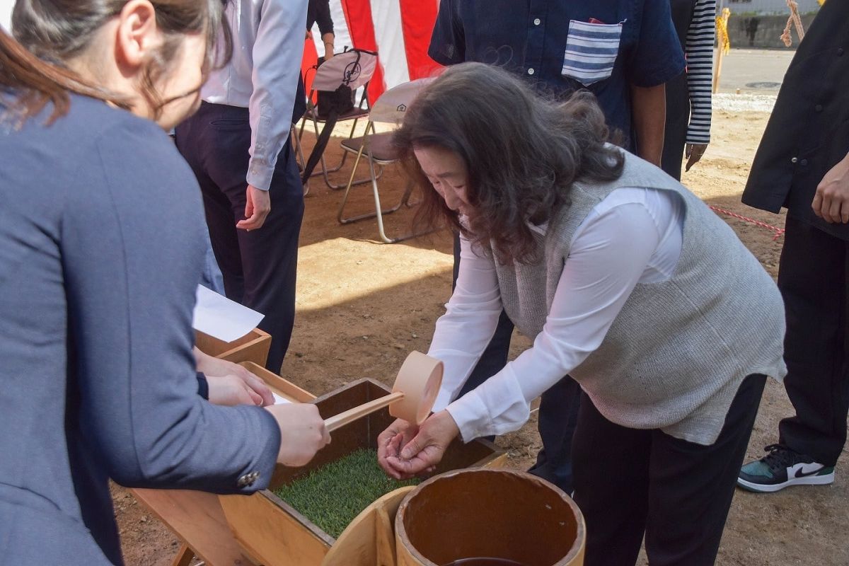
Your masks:
M616 181L573 186L571 204L539 237L543 261L496 261L504 310L535 339L572 237L593 206L616 188L678 193L685 212L675 272L661 283L638 284L599 349L570 375L613 423L711 445L745 376L787 373L784 304L772 277L725 222L672 177L625 155Z

